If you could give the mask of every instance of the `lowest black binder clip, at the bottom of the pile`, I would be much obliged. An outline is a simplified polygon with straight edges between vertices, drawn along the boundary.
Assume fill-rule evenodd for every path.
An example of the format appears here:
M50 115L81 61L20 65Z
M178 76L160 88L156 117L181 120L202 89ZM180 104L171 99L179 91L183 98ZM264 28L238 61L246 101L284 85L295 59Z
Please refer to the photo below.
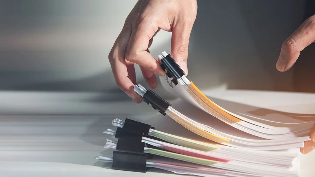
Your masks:
M112 169L145 173L146 154L114 151Z

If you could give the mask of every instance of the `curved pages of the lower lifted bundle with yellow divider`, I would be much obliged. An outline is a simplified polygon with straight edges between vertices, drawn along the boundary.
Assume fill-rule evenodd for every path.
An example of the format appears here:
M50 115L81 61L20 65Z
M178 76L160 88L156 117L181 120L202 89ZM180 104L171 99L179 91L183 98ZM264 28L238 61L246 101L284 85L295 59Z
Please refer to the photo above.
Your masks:
M180 83L180 81L178 82ZM146 90L140 84L138 86L135 85L136 92L141 90L143 96L146 96L146 93L150 90ZM152 91L150 91L152 92ZM145 97L144 100L146 101ZM151 103L154 104L154 103ZM175 105L174 105L175 107ZM171 105L169 105L165 109L165 114L169 117L174 119L176 122L181 124L183 127L187 128L188 130L203 136L209 140L228 145L231 147L238 147L238 148L247 148L247 149L255 149L255 150L279 150L279 149L288 149L288 148L295 148L295 147L303 147L304 141L309 140L309 136L302 136L302 137L295 137L290 139L282 139L282 140L268 140L261 137L253 136L248 133L241 133L239 130L235 129L233 134L229 134L224 132L228 129L223 129L220 127L225 126L225 123L222 121L217 121L215 124L216 127L212 127L214 121L211 121L212 124L205 125L195 121L195 118L188 118L184 114L177 111ZM210 117L210 115L209 115ZM233 129L230 127L230 129ZM230 132L230 131L229 131Z

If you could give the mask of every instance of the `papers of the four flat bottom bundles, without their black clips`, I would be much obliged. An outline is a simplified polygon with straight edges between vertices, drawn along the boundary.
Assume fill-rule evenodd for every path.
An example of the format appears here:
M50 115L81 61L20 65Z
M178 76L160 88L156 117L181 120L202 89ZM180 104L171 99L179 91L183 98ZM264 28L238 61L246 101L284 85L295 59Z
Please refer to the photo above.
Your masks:
M114 119L112 125L122 128L124 121ZM104 133L115 136L116 130L107 129ZM151 145L144 147L143 152L155 155L147 159L147 167L199 176L299 176L299 151L296 148L253 151L195 141L154 129L150 129L141 141ZM105 148L116 147L117 141L106 139ZM97 159L112 162L111 157L99 156Z

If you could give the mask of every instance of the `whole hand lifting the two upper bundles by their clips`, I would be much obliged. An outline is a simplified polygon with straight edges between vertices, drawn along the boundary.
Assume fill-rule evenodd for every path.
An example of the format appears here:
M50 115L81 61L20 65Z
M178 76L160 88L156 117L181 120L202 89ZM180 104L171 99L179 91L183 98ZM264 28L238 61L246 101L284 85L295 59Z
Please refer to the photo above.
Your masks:
M142 98L133 91L134 64L139 64L149 86L157 86L154 73L165 72L148 48L159 29L171 31L171 55L187 74L188 41L197 15L196 0L139 0L128 15L108 55L117 85L135 102Z

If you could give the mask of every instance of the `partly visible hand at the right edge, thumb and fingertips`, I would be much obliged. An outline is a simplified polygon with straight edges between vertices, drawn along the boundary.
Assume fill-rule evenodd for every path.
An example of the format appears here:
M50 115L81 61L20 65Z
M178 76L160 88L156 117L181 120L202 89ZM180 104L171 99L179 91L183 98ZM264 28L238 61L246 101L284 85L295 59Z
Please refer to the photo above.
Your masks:
M315 41L315 15L306 19L295 32L284 41L281 47L280 56L276 64L279 71L289 70L299 58L301 51ZM304 142L300 149L307 154L315 149L315 125L310 134L311 140Z

